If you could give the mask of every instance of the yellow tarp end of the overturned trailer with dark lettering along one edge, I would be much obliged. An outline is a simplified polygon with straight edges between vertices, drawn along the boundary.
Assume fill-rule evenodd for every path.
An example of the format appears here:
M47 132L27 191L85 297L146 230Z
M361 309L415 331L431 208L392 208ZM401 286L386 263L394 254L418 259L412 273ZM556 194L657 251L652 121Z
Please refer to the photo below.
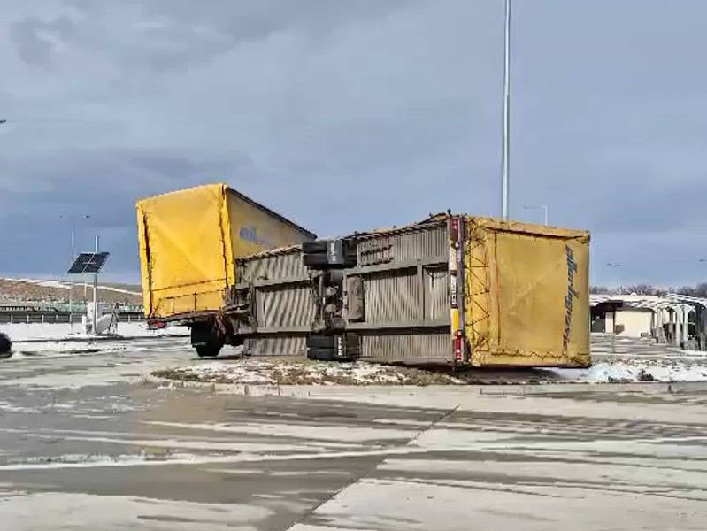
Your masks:
M473 366L588 366L589 233L468 217Z

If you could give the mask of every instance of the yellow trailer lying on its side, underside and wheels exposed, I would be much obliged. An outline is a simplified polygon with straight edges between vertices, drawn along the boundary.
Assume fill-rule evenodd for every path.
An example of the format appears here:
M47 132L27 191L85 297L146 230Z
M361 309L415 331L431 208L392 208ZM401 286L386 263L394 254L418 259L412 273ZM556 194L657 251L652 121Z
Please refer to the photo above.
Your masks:
M266 250L236 258L212 330L252 355L588 366L588 243L445 214Z

